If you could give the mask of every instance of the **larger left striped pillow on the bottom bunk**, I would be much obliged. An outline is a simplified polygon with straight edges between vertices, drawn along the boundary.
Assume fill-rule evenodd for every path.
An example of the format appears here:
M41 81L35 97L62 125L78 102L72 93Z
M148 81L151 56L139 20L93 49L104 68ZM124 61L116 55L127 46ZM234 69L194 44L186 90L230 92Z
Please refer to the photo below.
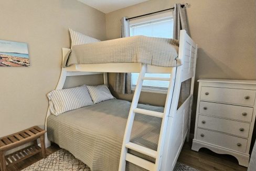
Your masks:
M54 90L47 94L49 99L50 111L54 115L92 105L92 99L86 85Z

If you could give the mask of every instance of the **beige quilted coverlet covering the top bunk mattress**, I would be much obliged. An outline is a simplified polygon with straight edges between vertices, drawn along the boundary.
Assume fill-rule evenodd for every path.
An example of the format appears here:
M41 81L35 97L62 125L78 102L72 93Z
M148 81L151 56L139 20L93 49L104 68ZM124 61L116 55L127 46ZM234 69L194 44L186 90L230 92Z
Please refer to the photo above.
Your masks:
M72 64L144 63L159 67L181 65L179 41L168 38L133 36L72 46L62 67Z

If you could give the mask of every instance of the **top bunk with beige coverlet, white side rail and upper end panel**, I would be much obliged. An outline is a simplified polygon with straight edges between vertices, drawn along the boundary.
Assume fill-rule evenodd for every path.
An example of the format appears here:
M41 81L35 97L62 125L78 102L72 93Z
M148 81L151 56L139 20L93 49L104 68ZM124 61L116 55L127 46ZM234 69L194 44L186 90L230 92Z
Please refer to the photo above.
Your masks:
M180 31L180 40L134 36L62 48L62 70L68 72L171 73L174 67L191 68L197 45ZM192 60L191 60L192 59ZM194 67L192 67L194 68Z

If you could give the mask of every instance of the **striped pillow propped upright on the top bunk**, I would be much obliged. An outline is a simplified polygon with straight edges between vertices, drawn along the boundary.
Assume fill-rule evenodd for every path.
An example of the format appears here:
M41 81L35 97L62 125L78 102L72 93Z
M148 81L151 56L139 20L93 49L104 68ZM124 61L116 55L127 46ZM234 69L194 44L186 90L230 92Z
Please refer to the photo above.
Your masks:
M69 33L70 33L70 37L71 37L71 48L74 45L90 44L92 42L100 41L98 39L81 34L78 31L74 31L72 29L69 29Z

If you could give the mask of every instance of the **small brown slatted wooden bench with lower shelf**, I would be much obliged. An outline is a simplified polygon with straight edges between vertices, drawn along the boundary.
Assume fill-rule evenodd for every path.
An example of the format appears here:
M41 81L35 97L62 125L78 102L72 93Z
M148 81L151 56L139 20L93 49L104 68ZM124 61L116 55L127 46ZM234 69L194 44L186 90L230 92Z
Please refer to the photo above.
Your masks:
M6 166L13 165L39 152L41 152L42 157L45 158L45 133L46 131L40 129L40 127L33 126L27 130L0 138L1 170L5 171ZM38 138L40 138L41 148L37 145ZM15 153L5 156L6 151L29 142L33 142L33 145L30 145L26 148L20 149Z

